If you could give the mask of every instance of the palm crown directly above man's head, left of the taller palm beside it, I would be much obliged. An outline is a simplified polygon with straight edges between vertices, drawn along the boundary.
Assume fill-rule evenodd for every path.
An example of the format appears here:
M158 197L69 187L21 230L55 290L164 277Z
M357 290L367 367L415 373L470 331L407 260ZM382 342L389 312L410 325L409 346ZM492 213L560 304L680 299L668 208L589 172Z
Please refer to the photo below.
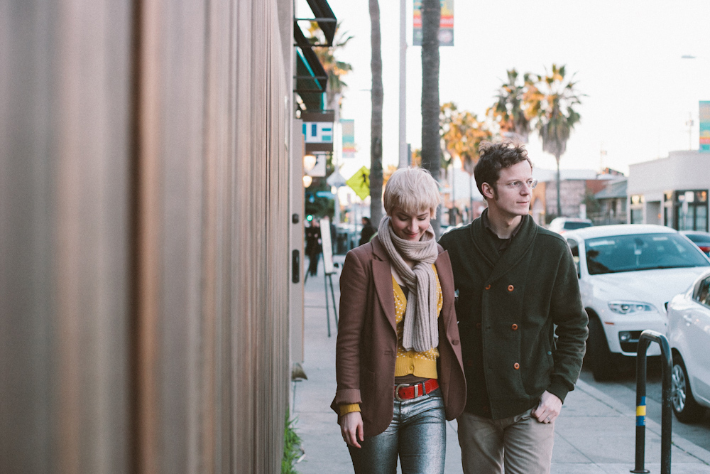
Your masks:
M501 135L528 143L530 121L534 116L530 112L527 99L532 84L530 74L525 72L523 83L518 82L518 71L511 69L508 82L503 82L496 95L496 104L488 108L486 114L498 123Z

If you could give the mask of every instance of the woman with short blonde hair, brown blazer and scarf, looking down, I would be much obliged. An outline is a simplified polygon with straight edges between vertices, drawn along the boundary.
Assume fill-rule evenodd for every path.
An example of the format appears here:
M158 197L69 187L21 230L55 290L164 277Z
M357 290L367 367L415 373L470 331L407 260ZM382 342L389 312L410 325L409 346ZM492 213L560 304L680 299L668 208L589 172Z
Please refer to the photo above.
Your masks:
M466 403L454 277L430 219L439 187L421 168L395 171L387 215L348 252L340 277L332 408L356 474L443 473L445 419Z

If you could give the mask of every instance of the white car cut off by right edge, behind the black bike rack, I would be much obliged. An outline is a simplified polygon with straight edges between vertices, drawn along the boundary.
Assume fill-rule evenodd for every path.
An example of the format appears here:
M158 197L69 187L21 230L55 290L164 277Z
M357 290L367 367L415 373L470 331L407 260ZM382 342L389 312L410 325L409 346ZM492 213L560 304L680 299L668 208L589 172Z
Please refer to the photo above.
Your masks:
M673 411L679 421L696 421L710 408L710 272L668 303L668 342Z

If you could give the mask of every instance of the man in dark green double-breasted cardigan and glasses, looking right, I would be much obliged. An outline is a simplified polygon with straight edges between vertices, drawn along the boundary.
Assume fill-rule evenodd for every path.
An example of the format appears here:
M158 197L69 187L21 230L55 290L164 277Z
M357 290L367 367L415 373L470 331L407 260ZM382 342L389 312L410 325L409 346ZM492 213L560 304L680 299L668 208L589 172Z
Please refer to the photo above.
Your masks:
M484 144L479 156L474 176L488 209L439 241L459 291L468 387L461 460L466 474L549 473L555 419L579 377L589 319L567 242L528 215L537 181L527 151Z

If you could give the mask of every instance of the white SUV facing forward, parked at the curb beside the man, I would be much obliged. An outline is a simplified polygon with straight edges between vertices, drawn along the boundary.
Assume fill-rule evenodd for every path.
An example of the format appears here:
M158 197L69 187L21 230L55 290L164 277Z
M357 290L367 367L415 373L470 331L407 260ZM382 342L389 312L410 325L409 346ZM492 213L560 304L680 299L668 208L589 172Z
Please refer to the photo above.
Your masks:
M666 304L710 267L710 259L676 230L661 225L603 225L564 234L577 263L589 314L586 361L594 378L610 379L636 355L645 329L665 334ZM660 355L656 344L648 355Z

